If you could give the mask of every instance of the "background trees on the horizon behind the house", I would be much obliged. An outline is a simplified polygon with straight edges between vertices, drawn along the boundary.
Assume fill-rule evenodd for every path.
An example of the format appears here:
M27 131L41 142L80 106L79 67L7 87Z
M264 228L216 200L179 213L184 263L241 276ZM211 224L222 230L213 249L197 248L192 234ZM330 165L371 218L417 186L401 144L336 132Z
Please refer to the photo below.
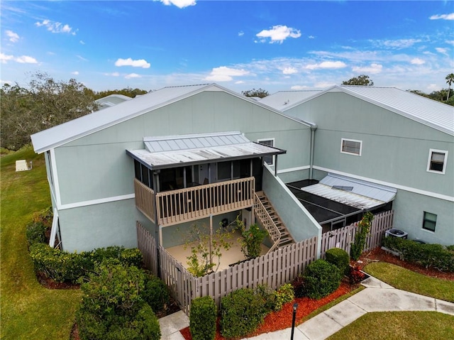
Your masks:
M415 94L428 97L454 106L454 96L450 87L454 74L445 77L448 89L441 89L426 94L419 90L409 90ZM374 82L368 75L359 75L342 83L343 85L372 86ZM110 94L123 94L134 98L145 94L143 89L114 89L94 92L76 79L69 82L56 81L48 74L37 72L31 76L27 87L18 84L4 84L0 89L0 146L9 150L18 150L31 142L33 133L57 126L66 121L90 114L99 109L95 100ZM265 89L243 91L246 97L266 97Z

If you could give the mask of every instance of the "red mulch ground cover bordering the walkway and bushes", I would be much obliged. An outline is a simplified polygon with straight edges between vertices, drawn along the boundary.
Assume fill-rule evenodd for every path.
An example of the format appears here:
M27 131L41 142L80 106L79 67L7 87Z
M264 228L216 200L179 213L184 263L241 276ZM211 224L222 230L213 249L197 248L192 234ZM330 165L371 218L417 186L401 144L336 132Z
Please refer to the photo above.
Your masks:
M391 253L387 253L386 251L382 250L382 248L375 248L370 252L362 253L360 256L360 260L358 262L353 261L352 265L358 265L360 269L364 268L365 265L373 262L387 262L392 263L394 265L399 265L400 267L412 270L416 273L420 273L423 275L428 275L433 278L441 278L445 280L454 281L454 273L445 273L441 272L440 270L433 269L433 268L424 268L421 265L416 265L413 263L407 263L399 259L399 257L392 255ZM351 290L353 290L355 286L350 286L348 283L342 283L341 287L333 292L331 295L327 297L323 297L321 300L313 300L309 299L309 297L301 297L295 299L293 302L289 302L282 307L279 312L272 312L265 317L265 322L260 326L253 334L248 334L248 336L257 336L259 334L268 333L270 331L277 331L279 329L286 329L292 327L292 318L293 318L293 304L294 302L298 303L297 309L297 316L296 316L296 324L300 324L304 317L314 312L314 310L323 307L328 302L336 300L338 297L341 297L344 294L347 294ZM189 331L189 327L180 330L180 333L186 340L192 340L191 333ZM216 329L216 340L223 340L223 336L221 336L220 327Z

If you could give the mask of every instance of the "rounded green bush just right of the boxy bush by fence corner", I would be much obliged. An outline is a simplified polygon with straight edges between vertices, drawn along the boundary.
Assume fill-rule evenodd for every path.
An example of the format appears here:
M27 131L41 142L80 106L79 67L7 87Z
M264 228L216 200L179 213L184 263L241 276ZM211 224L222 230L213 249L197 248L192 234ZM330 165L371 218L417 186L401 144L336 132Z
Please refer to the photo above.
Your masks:
M221 335L245 336L255 331L268 312L266 300L250 288L241 288L221 299Z

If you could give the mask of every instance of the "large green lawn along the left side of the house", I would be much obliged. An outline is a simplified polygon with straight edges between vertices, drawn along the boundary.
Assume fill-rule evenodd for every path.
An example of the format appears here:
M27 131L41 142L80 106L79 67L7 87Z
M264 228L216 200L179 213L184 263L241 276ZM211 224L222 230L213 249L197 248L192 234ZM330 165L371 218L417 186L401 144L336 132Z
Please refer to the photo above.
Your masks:
M16 160L33 161L33 170L16 172ZM35 278L28 256L26 224L50 206L43 155L28 147L3 155L1 176L0 338L69 339L79 290L48 290Z

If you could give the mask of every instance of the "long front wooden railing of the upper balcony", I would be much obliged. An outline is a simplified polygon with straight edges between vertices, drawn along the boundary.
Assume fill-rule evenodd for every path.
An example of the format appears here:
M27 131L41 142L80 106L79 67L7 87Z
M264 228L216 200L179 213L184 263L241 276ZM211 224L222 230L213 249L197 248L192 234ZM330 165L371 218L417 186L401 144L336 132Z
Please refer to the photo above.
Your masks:
M254 177L156 194L157 224L171 226L253 207Z

